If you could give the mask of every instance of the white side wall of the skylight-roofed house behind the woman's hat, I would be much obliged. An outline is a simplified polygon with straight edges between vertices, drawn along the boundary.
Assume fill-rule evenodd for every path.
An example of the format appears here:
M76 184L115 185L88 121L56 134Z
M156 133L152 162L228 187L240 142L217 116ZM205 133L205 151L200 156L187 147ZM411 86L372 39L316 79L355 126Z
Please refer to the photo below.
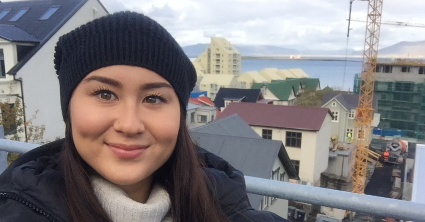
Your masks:
M95 16L94 7L97 9ZM88 0L17 73L16 77L23 79L25 117L28 120L38 111L32 124L45 125L44 139L46 140L52 141L56 137L65 136L59 82L53 64L56 42L60 36L76 27L106 14L96 0Z

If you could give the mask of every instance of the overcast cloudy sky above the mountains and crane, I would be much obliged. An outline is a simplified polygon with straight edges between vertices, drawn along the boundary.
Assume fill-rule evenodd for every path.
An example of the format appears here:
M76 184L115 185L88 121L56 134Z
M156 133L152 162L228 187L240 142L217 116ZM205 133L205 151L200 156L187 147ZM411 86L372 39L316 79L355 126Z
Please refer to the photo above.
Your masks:
M345 49L350 0L101 0L109 12L142 12L182 46L209 43ZM366 19L368 1L354 0L353 19ZM425 23L425 0L384 0L382 20ZM353 22L349 47L363 49L364 22ZM382 25L380 48L425 40L425 28Z

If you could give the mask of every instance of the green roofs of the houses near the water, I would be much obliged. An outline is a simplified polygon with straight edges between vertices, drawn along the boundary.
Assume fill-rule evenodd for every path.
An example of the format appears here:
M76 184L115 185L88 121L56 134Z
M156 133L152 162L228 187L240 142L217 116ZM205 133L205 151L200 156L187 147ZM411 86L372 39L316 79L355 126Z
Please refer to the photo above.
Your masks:
M316 89L319 84L319 79L311 78L286 78L286 80L272 80L271 83L253 83L251 89L261 89L265 86L270 90L279 100L289 100L291 90L294 90L295 95L298 93L300 84L304 86L303 89Z

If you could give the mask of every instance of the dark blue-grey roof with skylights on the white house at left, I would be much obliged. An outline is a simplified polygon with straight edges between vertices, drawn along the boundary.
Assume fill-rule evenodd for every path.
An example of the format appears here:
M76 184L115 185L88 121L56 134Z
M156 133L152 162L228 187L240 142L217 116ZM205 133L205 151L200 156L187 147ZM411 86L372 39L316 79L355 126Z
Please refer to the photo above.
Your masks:
M9 35L10 39L7 40L11 42L39 42L39 44L36 44L36 46L30 50L21 61L18 61L18 64L9 70L8 73L15 74L22 66L24 66L24 64L47 42L47 40L49 40L66 22L68 22L68 20L87 1L88 0L24 0L0 2L0 12L4 9L11 9L7 15L0 19L0 24L13 25L22 30L17 31L18 29L15 29L15 34ZM100 5L102 4L100 3ZM60 7L47 20L39 20L51 6ZM17 21L10 22L9 20L22 8L28 8L28 11ZM30 38L23 33L33 36L38 41L33 41L33 38ZM0 31L0 36L1 34L4 35L3 30Z

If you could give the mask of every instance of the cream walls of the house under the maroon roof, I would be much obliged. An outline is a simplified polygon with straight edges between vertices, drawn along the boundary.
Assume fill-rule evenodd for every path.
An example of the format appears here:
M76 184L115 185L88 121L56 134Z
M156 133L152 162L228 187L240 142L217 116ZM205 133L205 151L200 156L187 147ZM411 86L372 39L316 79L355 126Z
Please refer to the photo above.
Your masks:
M251 126L262 136L262 130L272 130L272 139L280 140L285 145L286 152L291 160L300 161L299 177L307 184L313 185L320 178L328 166L329 140L331 137L331 116L328 115L319 132L301 131L292 129L278 129L271 127ZM286 131L302 133L301 148L286 146ZM317 138L320 136L321 138ZM323 143L323 144L319 144ZM317 157L316 157L317 155Z

